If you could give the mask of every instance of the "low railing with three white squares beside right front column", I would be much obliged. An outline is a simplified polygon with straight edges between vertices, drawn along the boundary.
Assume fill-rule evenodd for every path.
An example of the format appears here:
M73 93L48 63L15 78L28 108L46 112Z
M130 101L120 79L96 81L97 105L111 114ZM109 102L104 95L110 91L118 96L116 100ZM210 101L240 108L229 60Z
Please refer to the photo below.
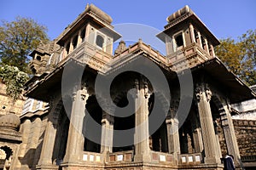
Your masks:
M201 153L182 154L179 156L180 164L200 164L202 162Z

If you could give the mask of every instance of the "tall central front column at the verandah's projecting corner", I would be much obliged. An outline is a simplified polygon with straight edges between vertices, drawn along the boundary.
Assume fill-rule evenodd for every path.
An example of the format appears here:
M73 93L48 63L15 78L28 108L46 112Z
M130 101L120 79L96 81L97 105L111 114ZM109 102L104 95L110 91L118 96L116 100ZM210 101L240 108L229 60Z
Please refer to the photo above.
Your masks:
M135 161L150 161L148 129L148 82L141 77L135 81Z

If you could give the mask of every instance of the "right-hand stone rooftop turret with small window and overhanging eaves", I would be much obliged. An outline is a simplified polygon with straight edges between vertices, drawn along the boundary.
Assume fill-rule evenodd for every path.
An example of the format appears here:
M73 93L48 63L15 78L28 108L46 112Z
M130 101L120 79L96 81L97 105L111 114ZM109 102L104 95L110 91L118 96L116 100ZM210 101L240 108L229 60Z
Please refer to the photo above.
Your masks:
M215 57L218 39L196 14L185 6L167 17L168 24L158 37L166 42L166 58L171 68L180 71Z

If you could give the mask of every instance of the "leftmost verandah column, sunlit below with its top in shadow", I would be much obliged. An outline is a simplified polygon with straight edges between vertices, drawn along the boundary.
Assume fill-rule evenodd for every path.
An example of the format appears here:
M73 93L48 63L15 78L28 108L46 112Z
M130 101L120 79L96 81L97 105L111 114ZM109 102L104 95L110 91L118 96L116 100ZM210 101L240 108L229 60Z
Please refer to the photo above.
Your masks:
M58 111L61 110L62 105L55 104L55 99L51 99L49 105L51 107L48 116L48 122L44 133L44 142L38 165L40 169L51 169L52 156L55 145L56 136L56 123L58 117ZM57 112L57 113L55 113Z

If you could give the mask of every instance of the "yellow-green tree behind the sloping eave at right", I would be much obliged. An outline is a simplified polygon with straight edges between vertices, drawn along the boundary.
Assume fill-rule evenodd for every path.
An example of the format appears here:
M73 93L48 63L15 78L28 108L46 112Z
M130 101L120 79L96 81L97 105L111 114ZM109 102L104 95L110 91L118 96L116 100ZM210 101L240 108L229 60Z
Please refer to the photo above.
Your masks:
M220 40L215 53L230 71L247 85L256 84L256 30L249 30L238 41L232 38Z

